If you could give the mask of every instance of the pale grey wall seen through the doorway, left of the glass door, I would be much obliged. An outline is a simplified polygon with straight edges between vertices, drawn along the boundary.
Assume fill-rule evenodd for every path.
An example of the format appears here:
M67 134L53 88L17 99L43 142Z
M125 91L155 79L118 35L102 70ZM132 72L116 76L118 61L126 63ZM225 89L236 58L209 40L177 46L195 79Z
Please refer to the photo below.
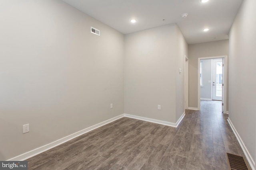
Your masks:
M201 60L202 62L202 84L200 87L200 98L211 99L212 83L208 81L212 79L212 59Z

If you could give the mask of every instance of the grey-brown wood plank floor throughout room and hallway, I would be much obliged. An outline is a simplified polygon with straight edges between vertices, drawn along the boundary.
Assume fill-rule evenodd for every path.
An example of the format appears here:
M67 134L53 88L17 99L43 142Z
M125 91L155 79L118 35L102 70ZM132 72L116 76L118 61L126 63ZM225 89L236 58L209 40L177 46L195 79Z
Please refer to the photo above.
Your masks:
M29 170L227 170L244 156L221 102L186 110L178 128L123 117L28 159Z

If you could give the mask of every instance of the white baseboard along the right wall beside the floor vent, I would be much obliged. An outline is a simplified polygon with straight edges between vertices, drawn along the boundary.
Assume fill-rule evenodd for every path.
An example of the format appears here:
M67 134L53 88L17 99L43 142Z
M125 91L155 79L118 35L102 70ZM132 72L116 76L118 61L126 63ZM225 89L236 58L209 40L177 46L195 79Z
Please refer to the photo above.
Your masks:
M230 125L232 131L233 131L234 134L236 135L236 139L238 140L238 142L239 142L239 144L240 144L242 150L244 151L244 154L245 154L245 156L246 156L246 158L247 158L247 160L248 160L248 162L249 162L249 164L250 164L252 170L255 170L255 169L254 169L254 167L255 167L255 162L254 162L254 160L253 160L253 158L252 158L250 152L247 150L246 146L244 145L244 142L242 141L240 135L239 135L238 132L236 131L236 128L234 127L234 125L233 125L232 121L229 119L229 117L228 117L228 123L229 123L229 125Z

